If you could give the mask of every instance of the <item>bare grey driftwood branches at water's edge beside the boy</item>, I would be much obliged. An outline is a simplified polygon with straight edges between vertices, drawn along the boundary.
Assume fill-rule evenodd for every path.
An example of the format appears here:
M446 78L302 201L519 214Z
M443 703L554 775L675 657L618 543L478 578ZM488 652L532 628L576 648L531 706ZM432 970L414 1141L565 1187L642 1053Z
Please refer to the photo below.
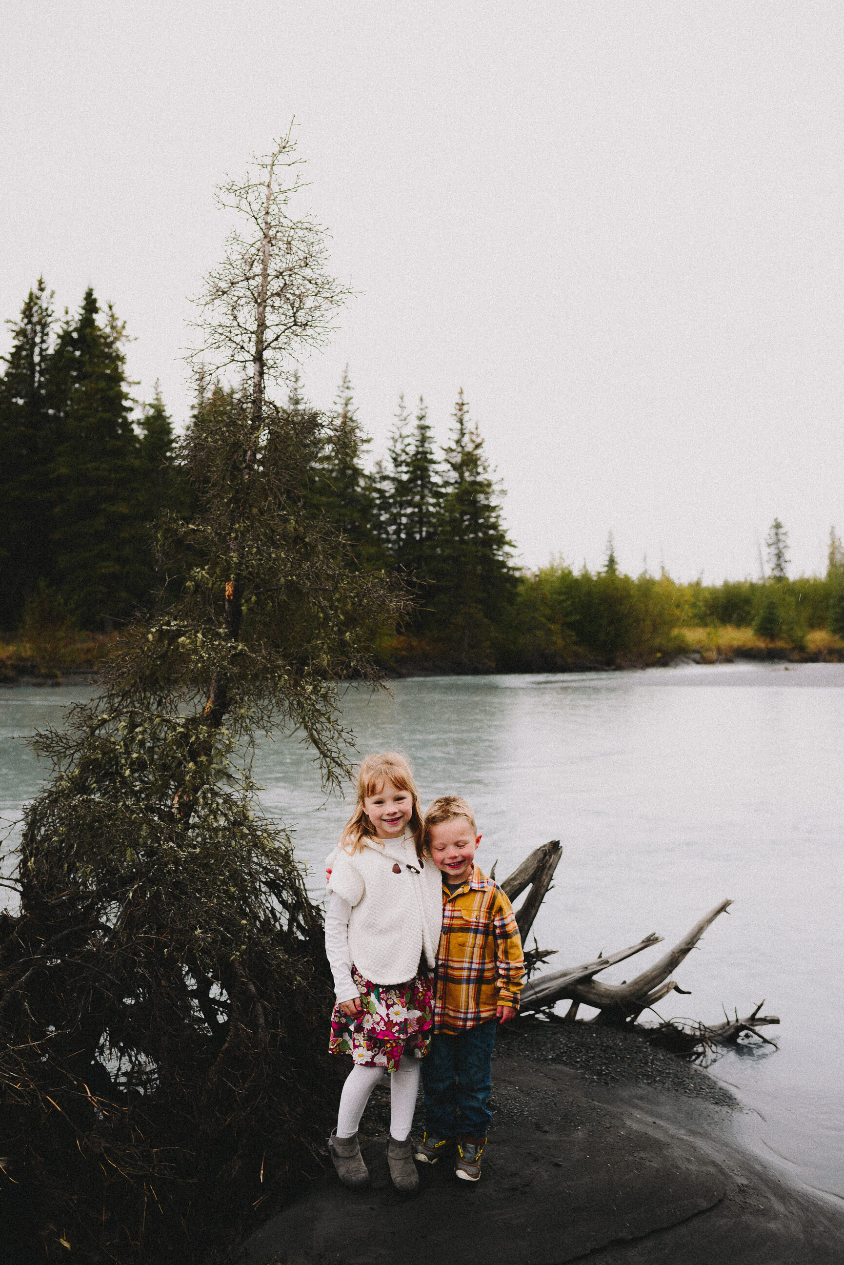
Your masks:
M501 883L502 891L511 901L515 901L525 889L530 889L516 912L516 922L523 942L526 940L539 907L550 889L559 858L561 844L558 839L553 839L550 842L543 844L542 848L537 848L530 853L521 865ZM638 944L630 945L628 949L619 949L607 955L599 954L593 961L583 963L580 966L563 966L559 970L543 973L537 979L529 979L521 993L521 1012L549 1011L558 1002L569 1001L571 1006L566 1013L567 1020L574 1020L581 1006L590 1006L597 1011L597 1015L591 1021L593 1023L615 1026L635 1023L643 1011L654 1007L668 993L683 992L677 980L671 978L673 972L695 947L707 927L715 922L719 915L725 913L731 903L730 899L721 901L709 913L705 913L682 940L673 949L669 949L668 953L663 954L653 966L643 970L634 979L625 980L623 984L605 984L595 977L609 966L624 961L625 958L633 958L644 949L650 949L653 945L661 944L662 936L650 932L650 935L647 935ZM526 950L525 960L529 974L533 974L539 963L545 961L555 953L555 949L542 950L537 947ZM683 1035L691 1042L690 1049L692 1045L701 1042L735 1044L745 1034L754 1034L763 1041L768 1041L768 1037L763 1037L757 1031L758 1027L778 1023L779 1020L776 1015L760 1015L759 1011L763 1004L764 1002L760 1002L753 1013L744 1020L739 1020L736 1012L734 1020L728 1018L725 1023L719 1023L714 1027L705 1027L700 1023L687 1025ZM773 1042L768 1044L773 1045Z

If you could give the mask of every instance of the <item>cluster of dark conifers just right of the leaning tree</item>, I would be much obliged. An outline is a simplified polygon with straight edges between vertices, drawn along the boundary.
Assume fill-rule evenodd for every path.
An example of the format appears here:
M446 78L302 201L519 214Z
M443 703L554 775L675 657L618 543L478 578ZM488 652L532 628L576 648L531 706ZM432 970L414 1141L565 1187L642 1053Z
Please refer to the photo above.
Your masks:
M397 569L415 600L397 635L382 640L382 657L467 670L495 667L518 577L501 491L463 392L440 452L425 401L411 414L400 397L386 459L371 472L362 460L369 439L356 416L348 374L337 412L348 441L339 460L328 454L318 463L323 512L354 543L362 565Z

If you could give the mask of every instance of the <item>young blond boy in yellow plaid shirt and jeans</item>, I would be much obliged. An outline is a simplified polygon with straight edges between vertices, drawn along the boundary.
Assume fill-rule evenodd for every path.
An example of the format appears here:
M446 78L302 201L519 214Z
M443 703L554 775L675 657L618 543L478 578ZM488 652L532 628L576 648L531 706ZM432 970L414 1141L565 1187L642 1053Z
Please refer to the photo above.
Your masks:
M443 875L443 930L434 1037L421 1065L425 1136L415 1157L435 1164L456 1137L454 1171L477 1182L492 1122L487 1098L495 1030L518 1013L521 940L509 899L475 864L481 836L466 799L435 799L425 815L424 837Z

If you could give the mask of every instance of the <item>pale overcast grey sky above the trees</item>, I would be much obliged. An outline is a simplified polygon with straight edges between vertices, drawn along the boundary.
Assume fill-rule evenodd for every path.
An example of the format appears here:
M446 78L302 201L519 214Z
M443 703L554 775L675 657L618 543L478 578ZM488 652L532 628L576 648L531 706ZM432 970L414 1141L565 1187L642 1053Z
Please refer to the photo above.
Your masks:
M310 204L359 296L343 366L382 450L399 391L458 387L526 565L606 535L680 579L792 573L844 529L844 5L814 0L0 4L4 268L90 283L139 396L189 409L213 188L296 115ZM4 349L8 335L3 336Z

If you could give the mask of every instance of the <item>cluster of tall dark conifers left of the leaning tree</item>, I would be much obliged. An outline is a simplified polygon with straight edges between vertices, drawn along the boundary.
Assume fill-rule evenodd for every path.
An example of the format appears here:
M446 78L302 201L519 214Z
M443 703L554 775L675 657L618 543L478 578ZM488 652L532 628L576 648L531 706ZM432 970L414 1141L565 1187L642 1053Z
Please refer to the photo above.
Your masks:
M108 629L153 583L151 522L178 500L158 392L132 416L125 330L87 290L56 319L39 281L0 378L0 626L43 617Z

